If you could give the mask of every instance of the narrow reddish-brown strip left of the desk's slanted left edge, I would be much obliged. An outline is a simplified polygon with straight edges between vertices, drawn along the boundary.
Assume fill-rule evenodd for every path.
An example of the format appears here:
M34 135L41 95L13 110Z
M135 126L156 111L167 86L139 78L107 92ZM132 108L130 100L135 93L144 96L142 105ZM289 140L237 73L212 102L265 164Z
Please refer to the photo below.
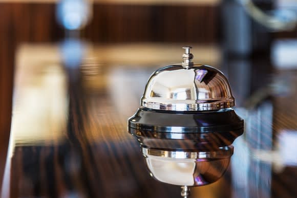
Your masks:
M0 186L3 182L10 135L15 46L13 33L9 6L0 6Z

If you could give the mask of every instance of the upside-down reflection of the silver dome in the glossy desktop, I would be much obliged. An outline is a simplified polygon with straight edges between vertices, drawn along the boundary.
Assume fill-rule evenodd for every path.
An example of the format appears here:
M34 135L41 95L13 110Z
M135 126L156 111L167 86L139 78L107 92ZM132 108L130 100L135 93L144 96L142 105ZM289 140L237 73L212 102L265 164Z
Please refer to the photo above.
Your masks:
M156 180L188 187L211 184L222 177L234 148L226 146L220 149L184 152L142 148L142 153L147 168Z

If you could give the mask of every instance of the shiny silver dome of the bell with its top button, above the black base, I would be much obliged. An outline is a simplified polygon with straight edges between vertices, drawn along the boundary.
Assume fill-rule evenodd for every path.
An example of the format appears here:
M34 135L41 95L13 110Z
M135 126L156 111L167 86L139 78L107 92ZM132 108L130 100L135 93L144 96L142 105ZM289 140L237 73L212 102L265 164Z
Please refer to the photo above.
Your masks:
M141 105L166 111L209 111L235 105L227 78L208 65L194 64L191 47L183 62L155 71L146 84Z

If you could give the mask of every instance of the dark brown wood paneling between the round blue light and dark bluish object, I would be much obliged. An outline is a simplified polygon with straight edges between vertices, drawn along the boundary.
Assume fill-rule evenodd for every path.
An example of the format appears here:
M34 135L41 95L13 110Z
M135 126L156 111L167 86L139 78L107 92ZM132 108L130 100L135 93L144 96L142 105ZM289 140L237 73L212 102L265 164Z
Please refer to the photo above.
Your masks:
M83 31L94 42L216 42L218 8L214 6L94 5Z

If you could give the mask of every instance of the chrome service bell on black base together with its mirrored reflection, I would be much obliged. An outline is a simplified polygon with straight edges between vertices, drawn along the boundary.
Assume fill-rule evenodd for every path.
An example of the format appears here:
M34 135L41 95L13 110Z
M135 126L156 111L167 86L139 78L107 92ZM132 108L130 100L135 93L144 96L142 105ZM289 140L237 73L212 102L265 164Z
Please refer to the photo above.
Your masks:
M188 186L210 184L222 176L233 154L230 145L243 134L244 121L232 108L235 99L224 74L194 64L191 47L183 49L182 63L152 74L128 125L151 175L183 186L185 196ZM217 174L209 172L210 167L218 168Z

